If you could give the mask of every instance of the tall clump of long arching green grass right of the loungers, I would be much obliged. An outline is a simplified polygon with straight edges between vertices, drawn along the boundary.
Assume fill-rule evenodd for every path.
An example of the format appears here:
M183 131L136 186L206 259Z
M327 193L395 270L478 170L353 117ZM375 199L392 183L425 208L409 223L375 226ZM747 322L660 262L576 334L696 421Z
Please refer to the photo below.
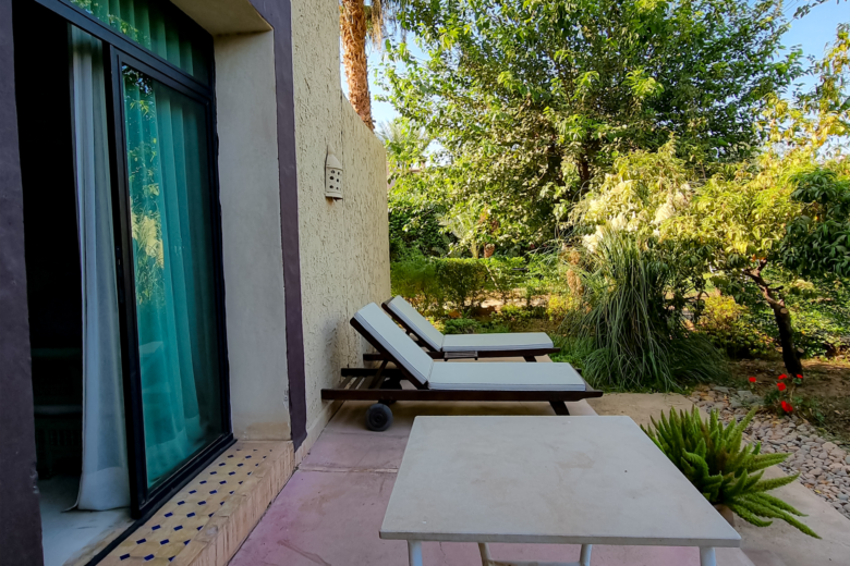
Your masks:
M590 383L666 391L689 380L726 377L720 353L685 328L681 304L671 294L679 275L670 258L610 230L588 258L590 268L581 273L587 308L568 317L561 328L564 334L593 341L594 350L584 360Z

